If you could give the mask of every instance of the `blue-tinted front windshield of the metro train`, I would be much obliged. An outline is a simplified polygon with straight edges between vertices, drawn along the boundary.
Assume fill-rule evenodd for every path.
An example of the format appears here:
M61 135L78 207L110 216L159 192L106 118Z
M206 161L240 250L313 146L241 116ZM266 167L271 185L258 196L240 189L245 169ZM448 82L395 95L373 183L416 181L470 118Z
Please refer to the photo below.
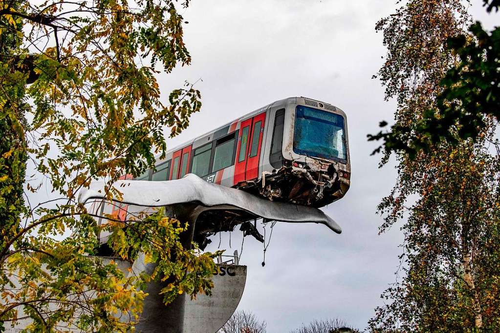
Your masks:
M346 163L345 126L341 115L298 105L295 111L293 151Z

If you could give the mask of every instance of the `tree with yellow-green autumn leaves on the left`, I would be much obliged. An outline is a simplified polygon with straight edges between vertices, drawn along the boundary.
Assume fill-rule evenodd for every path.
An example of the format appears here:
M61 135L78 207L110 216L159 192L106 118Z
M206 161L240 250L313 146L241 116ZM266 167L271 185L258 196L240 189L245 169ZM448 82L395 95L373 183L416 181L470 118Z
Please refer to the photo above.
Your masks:
M156 82L191 60L178 12L187 5L0 0L0 331L21 319L37 332L132 330L145 296L138 288L151 278L169 282L165 302L209 293L212 255L182 247L182 221L158 212L97 224L75 200L97 179L119 199L111 184L153 167L165 130L177 135L200 109L189 83L164 98ZM36 174L23 187L27 160ZM24 191L47 188L47 202ZM127 277L93 257L101 231L120 259L143 252L158 262L152 276Z

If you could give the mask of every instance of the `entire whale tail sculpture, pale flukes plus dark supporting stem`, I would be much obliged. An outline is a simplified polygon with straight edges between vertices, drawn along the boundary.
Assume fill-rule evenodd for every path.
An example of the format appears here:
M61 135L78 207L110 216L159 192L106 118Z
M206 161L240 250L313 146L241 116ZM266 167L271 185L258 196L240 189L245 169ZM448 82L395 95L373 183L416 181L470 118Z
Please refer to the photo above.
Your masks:
M94 182L88 189L82 190L78 201L81 204L94 203L93 209L100 211L97 214L101 216L100 219L104 219L104 213L110 213L106 210L113 210L112 207L118 207L120 213L123 213L118 215L121 219L126 219L128 214L152 213L154 208L166 207L171 217L189 225L188 232L183 233L181 239L186 249L190 248L193 241L204 249L210 242L208 238L211 235L220 231L232 231L237 225L241 225L240 230L245 236L252 235L263 241L255 226L248 223L257 218L289 223L318 223L337 234L341 233L340 226L317 208L265 200L238 189L208 183L194 174L187 174L178 180L158 182L119 180L113 186L121 193L119 201L106 201L104 182ZM108 236L99 235L100 243L105 243ZM139 256L133 265L140 267L138 271L148 271L152 269L148 265L155 264L144 264ZM244 272L246 273L246 268ZM165 307L161 297L156 295L161 288L159 282L150 282L146 287L149 296L144 300L143 314L147 316L142 316L145 320L139 323L137 330L185 332L184 328L188 325L184 323L184 295L180 295L178 300ZM238 302L232 302L234 309L226 309L227 320Z

